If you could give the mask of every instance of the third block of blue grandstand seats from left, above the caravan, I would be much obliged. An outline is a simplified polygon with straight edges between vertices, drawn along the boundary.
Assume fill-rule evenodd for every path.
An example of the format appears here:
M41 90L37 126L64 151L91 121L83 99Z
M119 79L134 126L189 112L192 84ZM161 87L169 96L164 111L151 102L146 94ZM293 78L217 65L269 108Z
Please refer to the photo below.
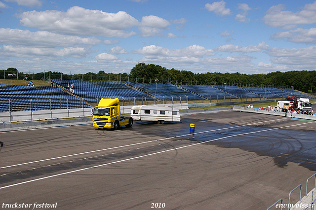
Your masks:
M161 83L136 83L136 82L127 82L133 88L138 90L144 91L153 97L157 97L160 100L175 100L180 99L182 100L201 100L202 97L198 96L197 94L191 93L187 90L184 90L180 87L171 85L171 84L161 84ZM156 86L157 85L157 86ZM157 88L156 88L157 87Z

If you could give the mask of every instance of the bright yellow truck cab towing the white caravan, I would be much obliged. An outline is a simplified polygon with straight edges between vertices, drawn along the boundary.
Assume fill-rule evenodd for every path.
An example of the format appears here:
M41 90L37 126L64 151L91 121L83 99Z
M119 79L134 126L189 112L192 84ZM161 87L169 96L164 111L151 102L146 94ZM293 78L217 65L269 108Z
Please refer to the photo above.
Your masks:
M119 100L102 98L97 106L91 109L93 127L117 130L120 126L131 127L133 118L120 115Z

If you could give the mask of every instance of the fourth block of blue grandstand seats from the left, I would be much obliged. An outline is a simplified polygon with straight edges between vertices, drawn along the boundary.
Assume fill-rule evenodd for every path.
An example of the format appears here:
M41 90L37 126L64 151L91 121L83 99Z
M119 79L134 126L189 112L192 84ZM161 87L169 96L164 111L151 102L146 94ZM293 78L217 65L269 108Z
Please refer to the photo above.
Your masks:
M208 85L178 85L181 88L184 88L188 91L196 93L203 96L206 99L226 99L232 98L235 99L236 96L229 94L228 92L222 91L218 88Z

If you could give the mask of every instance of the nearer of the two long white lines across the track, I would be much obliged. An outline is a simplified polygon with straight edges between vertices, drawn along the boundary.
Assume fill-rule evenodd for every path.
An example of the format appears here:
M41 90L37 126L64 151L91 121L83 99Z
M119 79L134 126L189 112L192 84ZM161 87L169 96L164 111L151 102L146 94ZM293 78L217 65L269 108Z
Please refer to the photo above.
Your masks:
M288 127L292 127L292 126L299 126L299 125L304 125L304 124L308 124L308 123L315 123L315 122L307 122L307 123L301 123L301 124L297 124L297 125L288 125L288 126L283 126L283 127L279 127L279 128L271 128L271 129L265 129L265 130L260 130L260 131L253 131L253 132L248 132L248 133L243 133L243 134L236 134L236 135L232 135L232 136L222 137L222 138L218 138L218 139L214 139L214 140L202 141L202 142L198 142L198 143L195 143L195 144L181 146L181 147L178 147L178 148L167 149L167 150L163 150L163 151L160 151L160 152L155 152L155 153L151 153L151 154L147 154L147 155L141 155L141 156L137 156L137 157L133 157L133 158L128 158L128 159L124 159L124 160L114 161L114 162L111 162L111 163L105 163L105 164L101 164L101 165L97 165L97 166L92 166L92 167L89 167L89 168L78 169L78 170L75 170L75 171L65 172L65 173L61 173L61 174L57 174L57 175L50 175L50 176L46 176L46 177L41 177L41 178L29 180L29 181L24 181L24 182L20 182L20 183L16 183L16 184L11 184L11 185L0 187L0 189L13 187L13 186L21 185L21 184L26 184L26 183L30 183L30 182L34 182L34 181L39 181L39 180L46 179L46 178L52 178L52 177L55 177L55 176L67 175L67 174L71 174L71 173L85 171L85 170L88 170L88 169L94 169L94 168L107 166L107 165L111 165L111 164L115 164L115 163L121 163L121 162L129 161L129 160L134 160L134 159L138 159L138 158L142 158L142 157L156 155L156 154L159 154L159 153L165 153L165 152L173 151L173 150L177 150L177 149L183 149L183 148L186 148L186 147L195 146L195 145L198 145L198 144L207 143L207 142L211 142L211 141L216 141L216 140L221 140L221 139L226 139L226 138L231 138L231 137L237 137L237 136L243 136L243 135L247 135L247 134L254 134L254 133L259 133L259 132L272 131L272 130L281 129L281 128L288 128Z

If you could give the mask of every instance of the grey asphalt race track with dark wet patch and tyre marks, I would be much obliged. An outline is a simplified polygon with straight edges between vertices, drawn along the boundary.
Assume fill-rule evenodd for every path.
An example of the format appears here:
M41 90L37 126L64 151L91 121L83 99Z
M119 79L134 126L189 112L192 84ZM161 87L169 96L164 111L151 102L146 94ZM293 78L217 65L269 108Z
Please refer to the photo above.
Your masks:
M266 210L305 195L315 137L316 121L236 111L3 132L0 209Z

